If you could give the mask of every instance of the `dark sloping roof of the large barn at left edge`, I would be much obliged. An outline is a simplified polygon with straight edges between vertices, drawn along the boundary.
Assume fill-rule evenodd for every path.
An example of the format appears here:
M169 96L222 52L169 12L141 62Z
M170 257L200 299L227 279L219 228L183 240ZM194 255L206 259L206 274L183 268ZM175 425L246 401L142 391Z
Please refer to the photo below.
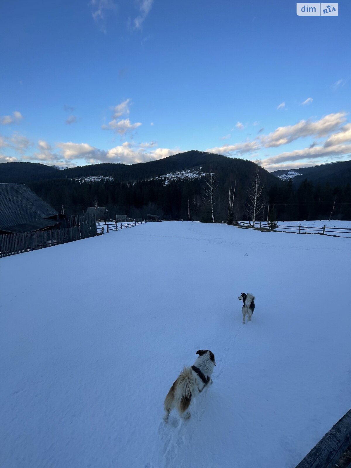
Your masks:
M0 230L29 232L57 224L59 213L23 183L0 183Z

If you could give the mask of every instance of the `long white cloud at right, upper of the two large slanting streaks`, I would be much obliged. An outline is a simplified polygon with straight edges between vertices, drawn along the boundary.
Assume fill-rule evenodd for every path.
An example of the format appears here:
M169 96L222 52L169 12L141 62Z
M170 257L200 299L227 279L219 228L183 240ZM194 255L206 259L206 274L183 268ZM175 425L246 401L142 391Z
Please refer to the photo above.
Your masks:
M298 138L307 136L324 137L329 132L336 130L346 120L345 112L329 114L316 122L310 120L300 120L295 125L286 127L278 127L277 130L271 132L267 136L262 136L263 146L277 147L290 143Z

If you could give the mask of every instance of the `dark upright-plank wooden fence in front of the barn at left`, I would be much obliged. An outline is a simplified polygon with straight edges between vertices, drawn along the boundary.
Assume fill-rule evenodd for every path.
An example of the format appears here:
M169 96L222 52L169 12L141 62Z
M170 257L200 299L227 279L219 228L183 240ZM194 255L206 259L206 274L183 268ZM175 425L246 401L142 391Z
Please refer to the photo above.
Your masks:
M97 234L95 216L83 214L69 218L71 227L18 234L0 234L0 257L79 241Z

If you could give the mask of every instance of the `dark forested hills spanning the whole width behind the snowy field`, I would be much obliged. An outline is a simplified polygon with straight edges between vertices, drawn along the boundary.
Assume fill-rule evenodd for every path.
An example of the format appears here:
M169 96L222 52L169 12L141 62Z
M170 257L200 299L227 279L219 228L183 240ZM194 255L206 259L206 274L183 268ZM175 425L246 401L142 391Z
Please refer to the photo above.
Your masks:
M145 218L150 213L161 219L235 223L252 220L254 208L256 221L329 219L330 215L332 219L351 219L350 162L329 165L333 167L324 168L318 177L309 171L306 177L282 181L251 161L191 151L147 163L97 164L65 170L33 163L4 163L0 164L0 183L25 183L57 211L61 212L63 206L65 214L103 206L110 219L116 214ZM338 165L344 165L338 169L342 176L336 175ZM187 169L198 176L162 178ZM249 195L256 173L259 183L254 207ZM100 175L113 180L74 180Z

